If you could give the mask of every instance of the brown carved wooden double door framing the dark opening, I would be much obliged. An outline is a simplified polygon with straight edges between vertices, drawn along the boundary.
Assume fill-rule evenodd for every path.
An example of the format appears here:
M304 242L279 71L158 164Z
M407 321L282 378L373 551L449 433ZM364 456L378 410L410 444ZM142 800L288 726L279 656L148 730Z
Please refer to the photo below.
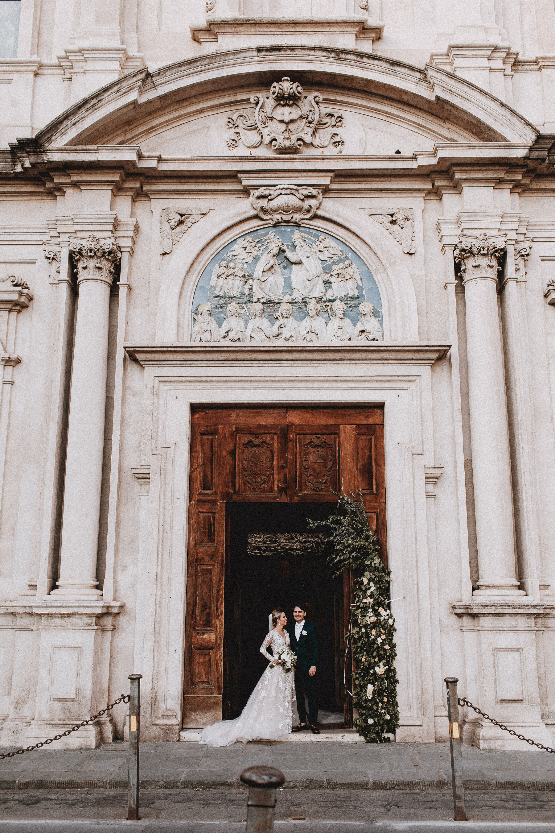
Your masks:
M384 411L196 408L190 471L183 725L195 727L222 716L230 505L333 504L337 492L360 491L385 558ZM351 581L344 577L344 629ZM347 725L348 712L349 704Z

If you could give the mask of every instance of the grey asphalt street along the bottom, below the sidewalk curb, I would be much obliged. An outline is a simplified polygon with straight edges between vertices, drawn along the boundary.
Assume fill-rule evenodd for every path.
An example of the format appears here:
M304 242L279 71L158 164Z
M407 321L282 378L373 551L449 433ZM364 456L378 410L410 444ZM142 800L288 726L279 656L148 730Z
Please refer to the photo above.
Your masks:
M0 833L245 831L246 791L141 791L141 821L126 821L123 790L0 791ZM289 833L555 833L553 791L468 791L468 822L453 822L451 791L283 790L275 831Z

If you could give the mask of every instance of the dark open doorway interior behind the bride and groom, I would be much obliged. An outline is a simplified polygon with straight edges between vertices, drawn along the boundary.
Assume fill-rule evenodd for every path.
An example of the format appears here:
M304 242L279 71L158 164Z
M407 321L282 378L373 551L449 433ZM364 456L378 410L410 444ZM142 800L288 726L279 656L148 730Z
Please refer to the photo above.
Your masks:
M326 546L307 529L306 518L327 517L325 503L228 504L224 601L224 692L222 716L238 716L265 670L260 645L268 615L283 607L287 630L293 607L310 606L320 661L316 674L319 709L344 711L343 579L332 579Z

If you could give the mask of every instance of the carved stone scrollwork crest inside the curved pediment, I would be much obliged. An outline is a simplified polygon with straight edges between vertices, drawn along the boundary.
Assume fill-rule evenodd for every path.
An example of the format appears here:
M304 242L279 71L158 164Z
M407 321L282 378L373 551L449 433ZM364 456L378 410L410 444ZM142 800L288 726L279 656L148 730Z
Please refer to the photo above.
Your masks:
M322 107L322 96L311 92L305 97L299 83L283 77L270 87L270 96L256 93L250 97L255 112L248 116L236 112L228 118L227 127L233 138L227 140L230 150L243 142L245 147L270 145L279 153L295 153L303 145L328 147L330 142L343 152L344 141L334 127L343 127L343 116L330 107Z

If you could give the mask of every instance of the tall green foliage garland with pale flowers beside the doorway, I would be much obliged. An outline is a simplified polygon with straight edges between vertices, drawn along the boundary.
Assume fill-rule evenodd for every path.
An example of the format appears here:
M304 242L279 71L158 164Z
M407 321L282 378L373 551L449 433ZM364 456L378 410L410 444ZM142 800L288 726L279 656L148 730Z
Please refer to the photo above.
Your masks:
M325 521L308 521L309 529L327 526L334 549L328 562L339 576L354 571L351 603L354 728L367 743L387 743L399 726L395 620L389 611L390 572L379 557L378 539L368 526L362 496L339 495L336 511Z

